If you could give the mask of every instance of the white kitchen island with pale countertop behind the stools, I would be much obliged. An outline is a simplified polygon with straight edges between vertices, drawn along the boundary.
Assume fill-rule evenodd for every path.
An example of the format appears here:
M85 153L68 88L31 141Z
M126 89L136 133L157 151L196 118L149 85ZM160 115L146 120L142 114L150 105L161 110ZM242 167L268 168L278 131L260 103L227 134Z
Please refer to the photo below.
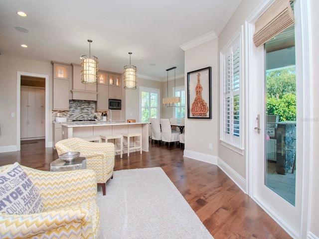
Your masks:
M62 139L91 135L142 132L142 150L149 151L149 123L81 121L62 123Z

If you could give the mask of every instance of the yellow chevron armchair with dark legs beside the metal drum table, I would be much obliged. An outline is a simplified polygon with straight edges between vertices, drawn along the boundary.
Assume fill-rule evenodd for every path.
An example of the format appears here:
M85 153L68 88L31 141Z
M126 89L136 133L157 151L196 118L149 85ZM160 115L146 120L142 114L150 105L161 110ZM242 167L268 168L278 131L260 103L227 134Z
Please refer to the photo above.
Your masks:
M70 151L80 152L86 157L86 167L96 173L98 185L102 186L103 195L106 193L105 184L113 176L115 146L114 143L89 142L82 138L67 138L55 143L58 154Z

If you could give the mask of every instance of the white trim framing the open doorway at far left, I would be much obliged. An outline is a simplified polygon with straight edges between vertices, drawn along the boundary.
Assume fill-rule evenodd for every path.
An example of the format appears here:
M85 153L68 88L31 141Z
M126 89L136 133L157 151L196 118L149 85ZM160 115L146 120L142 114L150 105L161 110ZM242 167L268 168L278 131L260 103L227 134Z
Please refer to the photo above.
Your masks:
M42 75L37 73L30 73L30 72L21 72L18 71L16 73L16 150L20 151L20 114L21 114L21 76L31 76L31 77L39 77L45 78L45 147L49 147L49 120L48 120L48 109L49 109L49 76Z

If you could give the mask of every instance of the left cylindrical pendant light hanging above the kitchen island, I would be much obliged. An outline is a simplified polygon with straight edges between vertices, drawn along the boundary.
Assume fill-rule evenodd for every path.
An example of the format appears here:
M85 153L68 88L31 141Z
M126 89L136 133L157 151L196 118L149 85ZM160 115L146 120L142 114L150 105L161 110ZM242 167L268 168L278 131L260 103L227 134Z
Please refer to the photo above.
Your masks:
M97 84L99 76L99 60L95 56L91 56L91 42L89 42L89 55L81 56L81 81L86 84Z

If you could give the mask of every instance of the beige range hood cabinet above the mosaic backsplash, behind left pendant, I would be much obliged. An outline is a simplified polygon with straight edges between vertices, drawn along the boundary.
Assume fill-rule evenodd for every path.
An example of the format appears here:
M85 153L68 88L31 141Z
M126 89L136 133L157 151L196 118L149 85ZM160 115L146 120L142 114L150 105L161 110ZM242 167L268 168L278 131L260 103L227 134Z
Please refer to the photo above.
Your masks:
M81 81L81 66L72 65L72 100L97 100L97 84L85 84Z

